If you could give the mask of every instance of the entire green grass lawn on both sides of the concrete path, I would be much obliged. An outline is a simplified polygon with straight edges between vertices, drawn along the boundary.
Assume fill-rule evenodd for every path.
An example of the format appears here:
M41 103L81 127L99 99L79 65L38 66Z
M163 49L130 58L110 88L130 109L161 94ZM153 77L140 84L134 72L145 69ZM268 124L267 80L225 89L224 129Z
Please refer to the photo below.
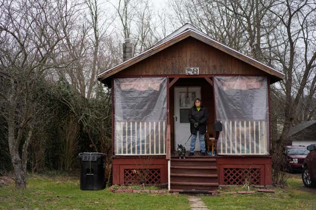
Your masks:
M210 210L316 210L316 189L303 186L300 174L290 175L289 187L275 193L225 194L246 190L221 189L219 195L202 196ZM254 189L256 190L256 189ZM113 193L109 189L80 190L78 178L30 175L27 189L14 184L0 187L0 210L190 210L186 195Z

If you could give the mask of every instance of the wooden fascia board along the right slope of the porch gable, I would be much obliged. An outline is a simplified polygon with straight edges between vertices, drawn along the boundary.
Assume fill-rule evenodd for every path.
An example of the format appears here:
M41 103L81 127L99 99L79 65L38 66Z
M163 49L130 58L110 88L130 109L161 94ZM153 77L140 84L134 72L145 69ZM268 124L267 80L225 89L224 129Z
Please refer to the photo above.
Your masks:
M227 53L228 55L231 55L231 56L233 56L233 57L235 57L235 58L237 58L245 63L248 63L248 64L250 64L250 65L252 65L252 66L254 66L262 71L265 71L270 75L276 76L280 79L285 78L284 74L282 74L281 72L278 72L278 71L274 70L273 68L268 67L267 65L264 65L264 64L254 60L254 59L251 59L251 58L243 55L242 53L239 53L239 52L237 52L229 47L225 47L224 45L222 45L218 42L214 42L214 41L210 40L209 38L206 38L206 37L204 37L196 32L190 32L190 35L201 42L207 43L210 46L212 46L216 49L219 49L220 51L222 51L224 53Z

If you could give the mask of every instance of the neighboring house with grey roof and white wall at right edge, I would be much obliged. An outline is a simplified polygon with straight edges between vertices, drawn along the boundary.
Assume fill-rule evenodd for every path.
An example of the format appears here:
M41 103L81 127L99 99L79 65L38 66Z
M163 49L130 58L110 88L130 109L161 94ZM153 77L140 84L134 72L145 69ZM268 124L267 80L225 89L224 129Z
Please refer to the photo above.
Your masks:
M316 120L305 121L291 127L287 145L307 147L311 144L316 144Z

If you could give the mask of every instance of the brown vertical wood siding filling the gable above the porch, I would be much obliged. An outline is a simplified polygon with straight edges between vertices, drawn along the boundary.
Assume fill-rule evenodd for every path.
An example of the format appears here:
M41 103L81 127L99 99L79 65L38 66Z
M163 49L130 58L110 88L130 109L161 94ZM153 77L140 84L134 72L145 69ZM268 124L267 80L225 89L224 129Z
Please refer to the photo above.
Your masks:
M116 76L185 74L186 67L199 67L199 74L267 75L250 64L189 37L126 68Z

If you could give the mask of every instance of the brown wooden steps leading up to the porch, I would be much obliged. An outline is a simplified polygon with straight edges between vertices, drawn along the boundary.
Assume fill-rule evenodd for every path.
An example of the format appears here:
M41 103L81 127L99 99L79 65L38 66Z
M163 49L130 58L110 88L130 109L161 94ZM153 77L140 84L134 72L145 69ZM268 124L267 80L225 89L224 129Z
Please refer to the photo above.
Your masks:
M170 190L217 190L219 186L216 158L171 158Z

